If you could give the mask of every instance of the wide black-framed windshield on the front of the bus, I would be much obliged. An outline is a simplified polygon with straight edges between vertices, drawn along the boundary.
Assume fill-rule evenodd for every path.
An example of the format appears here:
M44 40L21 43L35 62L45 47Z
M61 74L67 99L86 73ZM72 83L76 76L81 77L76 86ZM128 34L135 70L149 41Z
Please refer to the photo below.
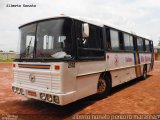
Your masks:
M29 24L20 28L20 58L73 58L71 26L71 19L59 18Z

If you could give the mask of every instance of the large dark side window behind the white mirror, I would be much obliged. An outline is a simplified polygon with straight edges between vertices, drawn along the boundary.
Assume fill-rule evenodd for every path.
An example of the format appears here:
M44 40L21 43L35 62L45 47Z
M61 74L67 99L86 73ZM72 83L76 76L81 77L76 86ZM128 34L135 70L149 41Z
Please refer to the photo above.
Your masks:
M82 23L80 24L82 26ZM78 57L80 59L104 59L103 29L99 26L89 24L89 37L83 38L81 28L78 25L76 27Z

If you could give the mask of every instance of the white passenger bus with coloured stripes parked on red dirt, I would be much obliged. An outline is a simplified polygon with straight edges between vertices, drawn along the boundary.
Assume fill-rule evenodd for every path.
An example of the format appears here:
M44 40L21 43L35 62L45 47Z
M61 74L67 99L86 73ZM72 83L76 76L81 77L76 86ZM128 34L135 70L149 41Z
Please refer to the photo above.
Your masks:
M153 69L153 41L94 20L58 16L24 24L13 63L14 93L56 105L111 88Z

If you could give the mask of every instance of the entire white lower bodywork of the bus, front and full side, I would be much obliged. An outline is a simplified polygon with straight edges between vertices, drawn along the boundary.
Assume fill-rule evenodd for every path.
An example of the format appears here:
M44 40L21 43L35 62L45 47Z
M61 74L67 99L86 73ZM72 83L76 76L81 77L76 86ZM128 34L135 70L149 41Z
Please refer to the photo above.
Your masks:
M147 64L150 68L149 53L140 53L141 69ZM23 63L24 65L49 65L49 69L20 68L16 64L13 86L23 88L25 96L40 99L40 93L48 93L59 96L59 105L65 105L97 93L97 83L102 72L110 72L112 87L128 82L136 78L136 65L134 53L106 53L106 60L93 62L54 62L54 63ZM145 58L145 61L143 60ZM70 64L73 64L70 66ZM60 66L55 70L55 65ZM142 71L141 71L142 72ZM29 76L35 75L36 81L32 83ZM124 77L125 76L125 77ZM33 97L27 91L37 92ZM86 92L87 91L87 92ZM57 104L57 103L55 103Z

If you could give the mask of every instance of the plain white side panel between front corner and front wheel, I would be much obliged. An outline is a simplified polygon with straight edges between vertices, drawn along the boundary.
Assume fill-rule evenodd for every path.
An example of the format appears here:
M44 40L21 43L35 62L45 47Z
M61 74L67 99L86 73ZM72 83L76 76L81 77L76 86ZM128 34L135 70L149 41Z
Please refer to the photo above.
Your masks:
M100 74L106 69L105 61L76 62L76 98L84 98L97 93L97 83ZM87 91L87 92L86 92Z

